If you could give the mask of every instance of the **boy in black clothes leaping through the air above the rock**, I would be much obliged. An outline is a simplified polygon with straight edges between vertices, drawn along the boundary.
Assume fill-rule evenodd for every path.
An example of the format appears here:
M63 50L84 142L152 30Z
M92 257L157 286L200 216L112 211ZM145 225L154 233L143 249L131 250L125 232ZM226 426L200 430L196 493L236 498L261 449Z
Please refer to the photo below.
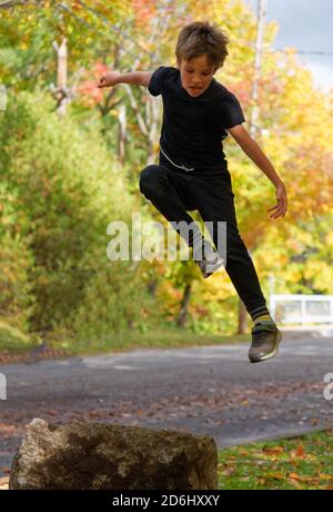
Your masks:
M140 190L174 229L181 221L191 226L186 243L193 248L203 277L209 277L224 260L204 239L188 210L198 209L204 223L213 224L216 249L219 220L226 223L225 270L254 323L249 360L258 363L278 354L282 334L270 316L238 229L231 176L221 144L228 132L274 184L278 205L269 208L268 211L275 210L271 217L284 217L286 191L270 160L242 126L245 119L238 98L213 78L228 56L228 42L215 24L192 22L179 35L176 68L161 66L153 72L124 75L111 71L101 77L98 87L137 83L148 87L152 96L162 95L160 161L141 171Z

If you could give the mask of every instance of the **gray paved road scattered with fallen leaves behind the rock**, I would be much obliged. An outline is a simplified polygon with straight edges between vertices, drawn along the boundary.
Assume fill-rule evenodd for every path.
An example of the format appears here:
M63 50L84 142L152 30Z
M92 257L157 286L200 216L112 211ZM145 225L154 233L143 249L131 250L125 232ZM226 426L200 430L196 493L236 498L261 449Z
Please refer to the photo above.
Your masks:
M0 476L33 417L186 430L219 447L333 426L324 375L333 328L284 331L280 354L250 364L248 344L140 349L0 366Z

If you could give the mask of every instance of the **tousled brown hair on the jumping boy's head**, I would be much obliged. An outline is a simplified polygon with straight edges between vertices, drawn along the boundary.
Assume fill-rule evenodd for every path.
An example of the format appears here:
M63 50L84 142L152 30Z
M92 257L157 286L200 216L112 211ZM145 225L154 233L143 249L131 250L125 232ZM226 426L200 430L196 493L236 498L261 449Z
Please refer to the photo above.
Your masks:
M226 45L229 38L218 23L210 24L209 21L193 21L186 24L180 32L175 47L176 60L190 60L206 53L208 61L214 66L215 71L222 68L225 57L229 55ZM214 72L215 72L214 71Z

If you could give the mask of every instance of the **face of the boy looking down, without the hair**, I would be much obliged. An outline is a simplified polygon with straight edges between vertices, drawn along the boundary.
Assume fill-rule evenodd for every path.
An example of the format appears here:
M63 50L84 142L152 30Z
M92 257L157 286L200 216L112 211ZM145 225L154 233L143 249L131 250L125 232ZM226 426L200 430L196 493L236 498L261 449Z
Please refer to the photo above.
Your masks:
M190 60L182 59L176 68L181 73L182 87L192 97L202 95L210 87L216 70L209 63L205 53Z

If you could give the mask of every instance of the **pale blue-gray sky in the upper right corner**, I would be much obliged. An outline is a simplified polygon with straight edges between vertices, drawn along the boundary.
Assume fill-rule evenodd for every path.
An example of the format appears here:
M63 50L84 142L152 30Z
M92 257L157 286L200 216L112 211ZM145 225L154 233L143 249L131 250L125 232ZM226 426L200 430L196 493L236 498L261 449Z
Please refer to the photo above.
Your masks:
M243 1L256 16L258 0ZM266 20L280 26L273 48L332 53L297 58L311 70L315 87L333 89L333 0L266 0Z

